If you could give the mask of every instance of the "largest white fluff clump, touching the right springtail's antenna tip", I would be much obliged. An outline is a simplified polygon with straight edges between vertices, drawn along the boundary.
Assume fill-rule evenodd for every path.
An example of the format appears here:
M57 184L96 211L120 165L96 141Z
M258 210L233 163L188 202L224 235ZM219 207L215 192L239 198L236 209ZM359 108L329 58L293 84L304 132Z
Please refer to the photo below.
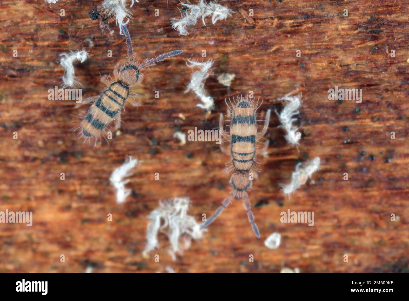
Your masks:
M202 228L193 216L187 215L189 203L190 200L187 197L159 201L159 207L148 215L150 222L146 230L148 242L142 252L144 257L148 252L160 248L157 240L159 231L165 233L169 238L169 253L173 260L175 260L176 253L182 255L183 251L190 247L192 238L195 240L202 238L207 229Z

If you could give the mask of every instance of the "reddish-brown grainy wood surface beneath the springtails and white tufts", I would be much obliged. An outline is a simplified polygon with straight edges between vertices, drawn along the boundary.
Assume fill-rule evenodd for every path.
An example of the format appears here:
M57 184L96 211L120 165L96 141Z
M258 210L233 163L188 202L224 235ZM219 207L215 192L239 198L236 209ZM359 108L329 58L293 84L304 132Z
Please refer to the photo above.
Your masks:
M33 211L34 221L31 227L0 224L0 272L85 272L87 267L92 272L165 272L165 267L175 272L279 272L282 267L408 272L408 2L219 3L237 14L215 25L211 18L207 26L199 20L188 36L170 27L171 18L180 16L178 1L169 0L169 7L165 0L135 3L128 29L136 59L176 49L183 53L144 70L134 89L141 106L128 104L121 134L94 148L70 131L78 124L72 114L89 105L77 109L73 100L48 100L47 91L61 82L59 55L82 48L90 58L74 67L83 96L104 89L100 75L112 75L127 57L115 20L110 34L90 19L88 11L101 1L1 1L0 210ZM160 16L154 16L155 9ZM206 81L215 99L210 114L196 106L195 95L184 93L192 72L186 61L202 60L202 50L215 61ZM223 72L236 75L230 88L216 79ZM362 88L362 103L328 100L328 89L335 86ZM261 239L236 201L176 261L163 234L162 248L142 257L146 217L159 200L190 197L189 214L199 221L202 213L213 214L230 190L224 172L228 156L211 141L181 146L175 131L215 129L228 96L254 91L264 100L259 112L265 112L281 110L277 98L296 89L303 93L300 145L286 143L273 113L269 155L259 158L262 171L249 193ZM128 156L142 162L127 185L133 194L118 205L109 177ZM313 181L286 199L280 183L290 181L298 162L317 156L321 169ZM281 223L280 213L288 208L314 211L315 225ZM264 245L273 232L282 235L275 250Z

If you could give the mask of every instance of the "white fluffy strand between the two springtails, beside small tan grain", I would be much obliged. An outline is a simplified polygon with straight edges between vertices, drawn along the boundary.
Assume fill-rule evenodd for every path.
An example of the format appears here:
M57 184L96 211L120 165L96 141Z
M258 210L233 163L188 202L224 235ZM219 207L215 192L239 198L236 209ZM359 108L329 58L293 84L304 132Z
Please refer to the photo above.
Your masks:
M185 93L189 91L193 91L199 98L203 104L198 104L198 106L202 109L210 111L213 109L214 101L211 96L208 95L207 91L205 90L205 80L209 77L209 69L213 66L213 60L208 60L203 63L199 63L198 61L191 61L188 60L190 65L187 63L189 68L199 67L200 70L193 72L191 75L190 83L187 86L187 90Z

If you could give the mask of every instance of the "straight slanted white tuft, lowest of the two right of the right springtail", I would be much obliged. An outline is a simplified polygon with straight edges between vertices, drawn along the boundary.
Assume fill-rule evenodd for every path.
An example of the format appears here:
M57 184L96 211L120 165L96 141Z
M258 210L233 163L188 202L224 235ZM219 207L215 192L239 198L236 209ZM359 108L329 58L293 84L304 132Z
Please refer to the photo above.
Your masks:
M295 172L291 175L290 184L282 186L284 194L289 195L300 188L301 185L304 185L311 175L319 170L320 162L320 158L317 157L305 163L298 163L295 167Z

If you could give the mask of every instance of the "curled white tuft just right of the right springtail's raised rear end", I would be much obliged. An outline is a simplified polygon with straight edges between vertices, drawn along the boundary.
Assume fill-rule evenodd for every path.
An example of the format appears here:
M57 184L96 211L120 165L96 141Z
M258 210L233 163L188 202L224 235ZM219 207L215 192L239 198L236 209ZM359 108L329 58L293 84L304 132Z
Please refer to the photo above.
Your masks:
M299 113L298 108L301 105L301 94L298 94L297 96L289 96L287 94L284 97L279 98L279 100L287 102L281 113L277 113L281 122L279 127L284 128L286 132L284 138L291 146L298 145L298 141L301 139L301 132L299 132L298 128L292 123L297 120L293 117Z

